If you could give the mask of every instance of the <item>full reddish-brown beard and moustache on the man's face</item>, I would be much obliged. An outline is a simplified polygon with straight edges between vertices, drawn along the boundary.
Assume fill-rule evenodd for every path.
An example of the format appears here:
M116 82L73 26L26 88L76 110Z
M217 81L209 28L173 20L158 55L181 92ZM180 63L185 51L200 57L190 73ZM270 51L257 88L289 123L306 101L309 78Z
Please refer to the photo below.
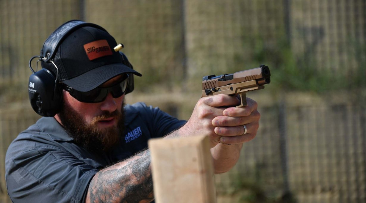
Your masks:
M74 138L76 144L84 147L88 151L108 152L119 142L119 139L124 132L123 107L124 101L122 103L121 111L103 111L100 115L95 116L90 124L87 124L78 112L72 109L71 106L64 104L59 113L59 117L64 129L68 132L70 137ZM117 119L117 126L104 129L97 128L99 120L110 117Z

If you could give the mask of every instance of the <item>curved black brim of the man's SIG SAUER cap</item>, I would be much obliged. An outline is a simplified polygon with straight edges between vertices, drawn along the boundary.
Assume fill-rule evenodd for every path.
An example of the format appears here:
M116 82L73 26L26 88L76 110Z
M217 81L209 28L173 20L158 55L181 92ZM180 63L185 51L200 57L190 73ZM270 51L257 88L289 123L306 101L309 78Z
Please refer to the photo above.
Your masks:
M72 89L86 92L100 86L109 79L124 73L132 73L137 76L142 76L139 72L127 67L123 63L115 63L94 68L82 75L68 80L63 80L62 82Z

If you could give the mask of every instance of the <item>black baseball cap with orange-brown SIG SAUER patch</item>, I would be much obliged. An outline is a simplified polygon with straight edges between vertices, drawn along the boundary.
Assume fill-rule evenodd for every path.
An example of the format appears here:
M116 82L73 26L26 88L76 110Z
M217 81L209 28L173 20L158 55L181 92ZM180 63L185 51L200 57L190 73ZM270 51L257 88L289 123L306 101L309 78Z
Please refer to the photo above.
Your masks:
M72 31L60 42L51 60L58 69L57 80L85 92L120 74L142 76L122 63L122 54L113 50L116 45L116 40L98 27L84 26ZM51 61L41 61L42 68L56 75Z

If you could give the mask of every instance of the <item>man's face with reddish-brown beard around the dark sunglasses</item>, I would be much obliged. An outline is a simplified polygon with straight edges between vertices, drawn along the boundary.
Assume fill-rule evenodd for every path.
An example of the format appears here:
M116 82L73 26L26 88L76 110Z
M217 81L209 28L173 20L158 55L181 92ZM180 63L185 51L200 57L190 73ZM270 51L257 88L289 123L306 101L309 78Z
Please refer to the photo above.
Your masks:
M102 87L115 84L116 76L105 82ZM74 141L91 151L108 151L119 141L124 131L124 95L107 98L99 103L84 103L63 91L64 106L57 116L63 127Z

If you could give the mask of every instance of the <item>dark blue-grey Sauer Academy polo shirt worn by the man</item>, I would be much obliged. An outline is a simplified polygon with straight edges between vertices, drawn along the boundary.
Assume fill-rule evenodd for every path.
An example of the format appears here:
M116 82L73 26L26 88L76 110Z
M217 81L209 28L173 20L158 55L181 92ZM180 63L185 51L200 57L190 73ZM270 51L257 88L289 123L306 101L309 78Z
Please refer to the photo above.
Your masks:
M42 117L21 132L5 157L5 180L14 202L84 202L100 169L147 147L147 140L178 129L186 121L143 103L126 105L126 133L109 153L76 145L53 117Z

